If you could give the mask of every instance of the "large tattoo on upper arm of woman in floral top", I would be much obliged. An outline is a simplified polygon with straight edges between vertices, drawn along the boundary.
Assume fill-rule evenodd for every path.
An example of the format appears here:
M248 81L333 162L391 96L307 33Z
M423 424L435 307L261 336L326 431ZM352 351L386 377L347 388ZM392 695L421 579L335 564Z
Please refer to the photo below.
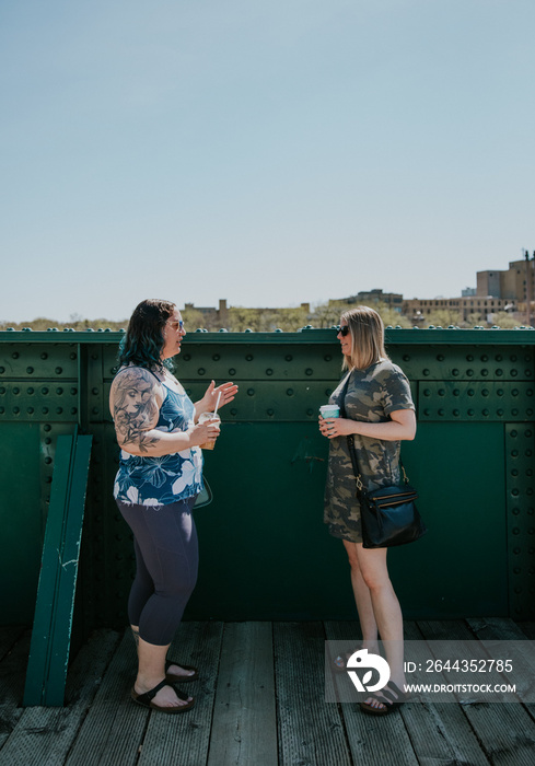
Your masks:
M126 368L114 381L114 421L119 446L136 445L140 452L160 441L147 431L158 421L158 404L154 398L154 380L146 370Z

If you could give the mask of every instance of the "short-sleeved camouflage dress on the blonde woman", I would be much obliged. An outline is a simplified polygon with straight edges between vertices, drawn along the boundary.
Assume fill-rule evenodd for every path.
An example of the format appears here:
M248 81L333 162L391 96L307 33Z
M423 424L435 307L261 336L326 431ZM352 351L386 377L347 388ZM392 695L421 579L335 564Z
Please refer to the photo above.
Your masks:
M340 404L347 375L332 394L329 404ZM346 417L368 422L385 422L397 409L415 409L410 386L403 370L389 359L367 370L352 370L345 398ZM362 480L368 489L399 481L398 441L384 441L354 434L354 448ZM334 537L362 543L360 506L354 494L354 475L347 437L329 442L325 487L324 521Z

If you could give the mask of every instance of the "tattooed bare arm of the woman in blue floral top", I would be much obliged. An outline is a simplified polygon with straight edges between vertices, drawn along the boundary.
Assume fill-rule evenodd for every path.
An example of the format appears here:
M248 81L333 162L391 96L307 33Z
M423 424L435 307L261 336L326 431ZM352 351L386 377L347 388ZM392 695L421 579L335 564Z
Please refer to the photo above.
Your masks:
M162 385L148 370L127 367L112 383L109 409L119 446L132 455L159 457L214 439L219 428L194 426L187 431L156 430L164 398Z

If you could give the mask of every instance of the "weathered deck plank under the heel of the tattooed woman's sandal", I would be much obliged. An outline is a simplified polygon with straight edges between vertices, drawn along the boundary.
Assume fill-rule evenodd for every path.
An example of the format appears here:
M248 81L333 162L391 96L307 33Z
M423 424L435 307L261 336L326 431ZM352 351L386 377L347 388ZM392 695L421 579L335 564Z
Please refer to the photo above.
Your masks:
M130 698L136 668L136 646L127 628L66 766L132 766L136 763L149 717L149 711Z

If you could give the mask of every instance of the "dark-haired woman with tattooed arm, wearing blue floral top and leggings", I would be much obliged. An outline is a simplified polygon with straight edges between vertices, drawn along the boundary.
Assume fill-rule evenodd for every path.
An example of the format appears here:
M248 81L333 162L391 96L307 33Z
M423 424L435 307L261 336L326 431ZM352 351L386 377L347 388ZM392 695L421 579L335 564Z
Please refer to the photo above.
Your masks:
M198 546L191 509L202 489L200 445L219 425L199 425L234 399L237 386L212 381L195 405L172 374L186 330L174 303L142 301L119 350L109 408L120 446L114 497L133 532L136 578L128 615L138 650L131 696L144 707L175 713L194 699L175 684L197 670L167 660L167 650L197 581Z

